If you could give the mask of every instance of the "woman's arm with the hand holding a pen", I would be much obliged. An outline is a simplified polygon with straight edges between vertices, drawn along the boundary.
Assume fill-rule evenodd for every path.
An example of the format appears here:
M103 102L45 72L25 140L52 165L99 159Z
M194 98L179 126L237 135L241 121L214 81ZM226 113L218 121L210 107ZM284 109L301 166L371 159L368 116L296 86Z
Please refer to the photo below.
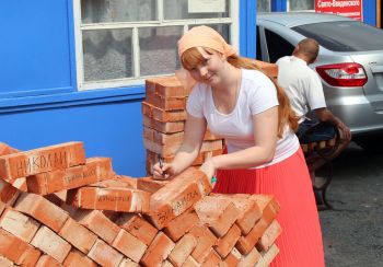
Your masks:
M202 144L206 132L206 119L187 115L184 141L171 163L164 163L162 169L156 163L153 166L153 177L156 179L169 178L190 166L196 160Z

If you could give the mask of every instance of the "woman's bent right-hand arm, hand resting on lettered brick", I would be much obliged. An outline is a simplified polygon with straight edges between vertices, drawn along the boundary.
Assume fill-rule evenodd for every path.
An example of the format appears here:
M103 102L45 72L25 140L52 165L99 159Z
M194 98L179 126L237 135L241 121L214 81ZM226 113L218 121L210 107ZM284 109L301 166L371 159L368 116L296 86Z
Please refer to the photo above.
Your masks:
M277 144L278 106L253 116L254 147L211 158L201 170L212 176L216 170L248 169L262 165L274 159Z

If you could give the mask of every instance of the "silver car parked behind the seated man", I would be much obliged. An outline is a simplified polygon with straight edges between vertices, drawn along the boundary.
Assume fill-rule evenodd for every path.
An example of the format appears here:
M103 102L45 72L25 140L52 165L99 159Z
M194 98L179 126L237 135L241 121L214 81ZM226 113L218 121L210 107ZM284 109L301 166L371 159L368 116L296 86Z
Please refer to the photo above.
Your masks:
M364 149L382 148L383 31L345 16L312 12L258 13L257 59L275 62L303 38L316 39L328 108Z

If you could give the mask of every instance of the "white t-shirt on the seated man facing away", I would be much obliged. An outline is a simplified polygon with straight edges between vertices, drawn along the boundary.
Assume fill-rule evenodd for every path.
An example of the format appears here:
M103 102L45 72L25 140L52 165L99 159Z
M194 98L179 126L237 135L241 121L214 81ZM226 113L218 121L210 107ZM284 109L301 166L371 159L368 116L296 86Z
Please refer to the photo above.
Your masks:
M288 94L292 109L305 119L311 109L326 107L323 86L318 76L307 67L307 63L294 56L286 56L276 62L278 65L278 84Z

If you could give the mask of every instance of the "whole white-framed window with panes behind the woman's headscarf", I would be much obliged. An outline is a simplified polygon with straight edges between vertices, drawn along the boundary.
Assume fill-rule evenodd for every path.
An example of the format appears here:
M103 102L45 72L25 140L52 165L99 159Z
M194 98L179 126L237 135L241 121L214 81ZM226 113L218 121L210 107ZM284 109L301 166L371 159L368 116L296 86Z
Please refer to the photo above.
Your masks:
M196 25L216 28L239 47L234 0L211 1L221 4L218 12L201 9L197 0L74 2L79 90L141 84L148 77L174 73L179 68L176 43Z

